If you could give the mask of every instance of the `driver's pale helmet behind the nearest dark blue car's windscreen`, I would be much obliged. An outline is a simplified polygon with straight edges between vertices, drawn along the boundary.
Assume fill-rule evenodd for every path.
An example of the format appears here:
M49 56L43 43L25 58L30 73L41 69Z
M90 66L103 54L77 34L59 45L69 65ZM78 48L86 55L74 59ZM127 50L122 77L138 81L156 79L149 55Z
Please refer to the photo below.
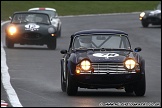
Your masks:
M79 43L81 47L85 48L92 47L92 36L80 36Z

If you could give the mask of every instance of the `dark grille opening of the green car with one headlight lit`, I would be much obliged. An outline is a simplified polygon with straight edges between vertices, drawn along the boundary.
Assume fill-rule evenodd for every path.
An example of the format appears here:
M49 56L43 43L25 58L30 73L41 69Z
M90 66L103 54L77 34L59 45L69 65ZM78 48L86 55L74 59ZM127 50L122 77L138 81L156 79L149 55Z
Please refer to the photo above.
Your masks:
M42 38L42 35L39 34L39 33L24 33L23 38L24 39L33 39L33 40L35 40L35 39Z

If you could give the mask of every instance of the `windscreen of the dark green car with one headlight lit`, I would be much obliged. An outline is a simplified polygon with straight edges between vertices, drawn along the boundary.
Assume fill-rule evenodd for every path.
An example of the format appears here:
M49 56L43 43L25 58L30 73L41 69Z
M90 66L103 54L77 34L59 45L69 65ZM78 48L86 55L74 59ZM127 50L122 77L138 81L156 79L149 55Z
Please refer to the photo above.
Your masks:
M46 14L19 13L14 14L11 23L43 23L50 24L50 19Z

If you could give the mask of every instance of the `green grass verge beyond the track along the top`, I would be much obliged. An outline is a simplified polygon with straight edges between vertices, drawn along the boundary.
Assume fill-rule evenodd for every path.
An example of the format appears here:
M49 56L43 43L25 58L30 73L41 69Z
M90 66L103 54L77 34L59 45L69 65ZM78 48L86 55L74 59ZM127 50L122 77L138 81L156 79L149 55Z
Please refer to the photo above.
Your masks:
M55 8L59 16L82 14L105 14L141 12L154 9L160 1L1 1L1 19L15 11L26 11L33 7Z

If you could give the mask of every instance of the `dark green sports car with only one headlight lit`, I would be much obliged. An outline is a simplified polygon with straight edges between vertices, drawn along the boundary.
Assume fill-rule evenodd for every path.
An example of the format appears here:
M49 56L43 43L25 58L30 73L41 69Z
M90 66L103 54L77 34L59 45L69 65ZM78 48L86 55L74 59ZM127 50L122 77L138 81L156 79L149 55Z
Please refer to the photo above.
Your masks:
M37 12L15 12L5 29L6 46L14 44L44 45L56 49L56 28L51 24L48 14Z

